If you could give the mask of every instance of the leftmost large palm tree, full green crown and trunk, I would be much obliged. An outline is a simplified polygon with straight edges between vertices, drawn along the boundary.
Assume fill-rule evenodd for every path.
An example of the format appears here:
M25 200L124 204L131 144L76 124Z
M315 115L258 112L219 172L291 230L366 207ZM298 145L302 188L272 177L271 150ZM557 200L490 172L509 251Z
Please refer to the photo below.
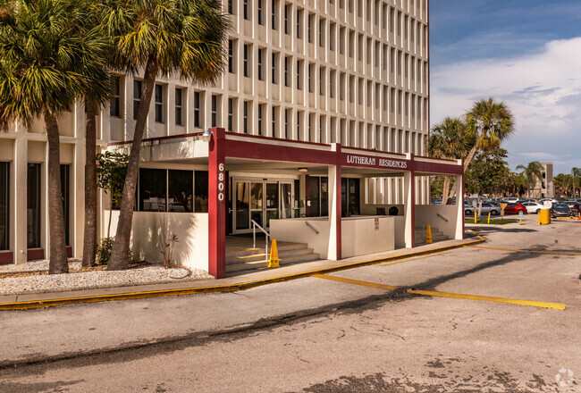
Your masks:
M105 40L87 26L88 7L79 0L4 0L0 7L0 127L45 122L48 272L68 272L57 120L100 83Z

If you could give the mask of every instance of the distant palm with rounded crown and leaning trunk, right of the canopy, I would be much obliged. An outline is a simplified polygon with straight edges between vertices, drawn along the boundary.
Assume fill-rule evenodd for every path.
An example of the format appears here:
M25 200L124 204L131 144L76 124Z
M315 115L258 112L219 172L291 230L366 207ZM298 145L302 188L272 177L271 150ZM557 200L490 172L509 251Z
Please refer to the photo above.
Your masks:
M476 144L472 146L464 160L464 171L472 162L477 150L491 152L501 146L501 142L514 133L514 120L509 107L504 102L497 102L493 97L481 99L472 105L466 115L468 131L473 132ZM450 197L456 193L456 184L450 191Z

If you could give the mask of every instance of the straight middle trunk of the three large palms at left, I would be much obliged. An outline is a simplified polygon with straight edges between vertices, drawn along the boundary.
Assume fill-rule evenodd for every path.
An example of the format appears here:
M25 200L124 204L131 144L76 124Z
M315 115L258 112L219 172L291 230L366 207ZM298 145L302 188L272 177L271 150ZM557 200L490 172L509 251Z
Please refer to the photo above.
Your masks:
M97 107L87 104L85 137L85 235L83 238L83 267L95 264L97 254Z

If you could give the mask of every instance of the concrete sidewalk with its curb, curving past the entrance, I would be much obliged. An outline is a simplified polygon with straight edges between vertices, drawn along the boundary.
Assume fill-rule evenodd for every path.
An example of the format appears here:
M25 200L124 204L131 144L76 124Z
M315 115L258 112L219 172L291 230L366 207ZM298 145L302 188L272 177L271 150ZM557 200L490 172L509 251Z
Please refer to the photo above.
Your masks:
M336 272L344 269L397 260L416 255L436 253L442 250L463 247L484 241L473 237L464 240L445 240L415 248L400 248L389 252L356 256L341 261L319 260L296 263L259 272L240 272L222 280L199 280L164 284L149 284L115 288L84 289L63 292L46 292L0 296L0 310L21 310L52 305L75 303L94 303L111 300L124 300L145 297L191 295L196 293L232 292L261 285L296 280L323 272Z

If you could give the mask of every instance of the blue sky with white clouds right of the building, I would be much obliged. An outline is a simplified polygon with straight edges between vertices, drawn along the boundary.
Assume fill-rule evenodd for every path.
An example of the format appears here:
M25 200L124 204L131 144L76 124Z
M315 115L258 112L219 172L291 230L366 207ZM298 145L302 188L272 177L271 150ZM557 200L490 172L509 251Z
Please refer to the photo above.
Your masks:
M581 0L430 0L430 121L504 101L509 167L581 168Z

